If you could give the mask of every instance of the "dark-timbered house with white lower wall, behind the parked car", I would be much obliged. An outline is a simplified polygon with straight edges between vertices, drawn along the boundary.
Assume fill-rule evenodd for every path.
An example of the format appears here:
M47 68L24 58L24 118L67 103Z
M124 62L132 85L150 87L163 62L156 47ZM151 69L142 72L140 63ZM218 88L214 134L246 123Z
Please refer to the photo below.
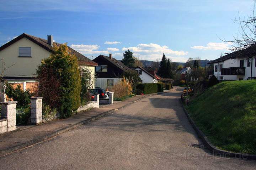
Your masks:
M113 58L112 54L109 54L109 56L99 55L93 61L98 64L95 67L95 86L102 89L111 89L114 84L122 79L123 72L131 70L122 62Z

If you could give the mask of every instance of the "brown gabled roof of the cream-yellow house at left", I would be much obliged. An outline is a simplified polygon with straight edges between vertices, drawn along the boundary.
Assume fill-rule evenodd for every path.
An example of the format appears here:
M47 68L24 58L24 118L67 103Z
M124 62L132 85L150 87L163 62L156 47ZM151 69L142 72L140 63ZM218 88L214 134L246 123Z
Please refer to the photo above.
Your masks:
M28 35L25 33L21 34L20 36L16 37L15 39L13 39L13 40L7 42L6 44L4 44L3 46L1 46L0 51L5 49L8 46L14 44L15 42L17 42L18 40L20 40L22 38L27 38L27 39L31 40L32 42L36 43L37 45L41 46L42 48L46 49L47 51L54 53L53 47L47 43L47 40L36 37L36 36ZM60 46L61 44L59 44L57 42L53 42L53 45ZM81 53L70 48L69 46L68 46L68 49L70 50L71 55L75 55L78 58L78 61L80 64L85 64L85 65L89 65L89 66L97 66L98 65L94 61L90 60L89 58L85 57Z

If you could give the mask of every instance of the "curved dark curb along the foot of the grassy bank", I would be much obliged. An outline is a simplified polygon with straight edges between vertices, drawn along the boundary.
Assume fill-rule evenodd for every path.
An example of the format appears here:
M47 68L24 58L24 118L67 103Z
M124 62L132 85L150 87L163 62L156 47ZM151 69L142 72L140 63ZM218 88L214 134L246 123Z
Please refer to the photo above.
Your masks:
M196 130L199 138L202 139L204 145L212 151L214 155L221 156L221 157L235 157L235 158L240 158L240 159L252 159L256 160L256 155L252 154L242 154L242 153L235 153L235 152L229 152L229 151L224 151L222 149L219 149L215 147L207 138L206 135L196 126L194 121L191 119L190 115L188 114L187 110L184 108L184 105L182 101L180 100L180 103L182 105L183 111L187 115L188 120L190 121L191 125L193 126L194 130Z

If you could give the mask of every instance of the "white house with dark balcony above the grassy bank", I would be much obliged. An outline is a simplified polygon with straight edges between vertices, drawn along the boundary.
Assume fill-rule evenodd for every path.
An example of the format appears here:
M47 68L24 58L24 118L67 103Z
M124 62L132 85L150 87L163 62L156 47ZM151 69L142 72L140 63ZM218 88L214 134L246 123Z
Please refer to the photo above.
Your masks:
M218 80L256 79L256 45L244 50L229 53L209 62L213 64L213 73Z

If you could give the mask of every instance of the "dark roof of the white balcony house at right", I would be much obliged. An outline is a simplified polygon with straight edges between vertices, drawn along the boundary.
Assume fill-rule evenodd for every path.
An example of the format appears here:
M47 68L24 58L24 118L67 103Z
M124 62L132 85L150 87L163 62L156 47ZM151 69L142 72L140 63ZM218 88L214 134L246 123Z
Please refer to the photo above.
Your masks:
M208 64L222 62L228 59L235 58L250 58L256 56L256 44L244 49L229 53L223 57L217 58L216 60L210 61Z

